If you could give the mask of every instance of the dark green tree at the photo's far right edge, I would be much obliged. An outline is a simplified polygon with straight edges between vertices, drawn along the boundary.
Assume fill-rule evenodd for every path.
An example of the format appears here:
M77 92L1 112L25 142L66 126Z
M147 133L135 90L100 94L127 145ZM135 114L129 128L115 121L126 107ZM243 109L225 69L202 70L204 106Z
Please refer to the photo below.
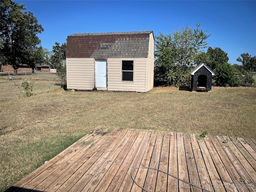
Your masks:
M238 57L236 60L242 63L244 70L248 72L256 71L256 56L252 57L248 53L242 53L241 57Z

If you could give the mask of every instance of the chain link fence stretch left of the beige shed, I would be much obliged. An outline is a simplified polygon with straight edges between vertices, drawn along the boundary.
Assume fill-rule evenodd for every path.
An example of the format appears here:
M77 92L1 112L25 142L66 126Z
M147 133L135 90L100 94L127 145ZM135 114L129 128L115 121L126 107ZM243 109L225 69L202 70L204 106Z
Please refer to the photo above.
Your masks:
M24 81L31 82L32 87L29 90L26 90L24 84L22 85L22 82ZM30 92L30 94L39 94L54 91L63 88L65 84L66 75L0 82L0 100L6 100L18 96L26 96L26 92Z

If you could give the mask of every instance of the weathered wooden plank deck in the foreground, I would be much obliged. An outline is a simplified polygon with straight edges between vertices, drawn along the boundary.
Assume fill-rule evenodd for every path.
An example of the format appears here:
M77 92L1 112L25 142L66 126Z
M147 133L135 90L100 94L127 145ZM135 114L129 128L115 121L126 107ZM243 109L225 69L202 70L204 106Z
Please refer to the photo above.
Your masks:
M98 129L7 191L139 192L131 172L140 166L160 169L212 192L255 192L256 140ZM150 192L202 192L155 170L142 168L133 175Z

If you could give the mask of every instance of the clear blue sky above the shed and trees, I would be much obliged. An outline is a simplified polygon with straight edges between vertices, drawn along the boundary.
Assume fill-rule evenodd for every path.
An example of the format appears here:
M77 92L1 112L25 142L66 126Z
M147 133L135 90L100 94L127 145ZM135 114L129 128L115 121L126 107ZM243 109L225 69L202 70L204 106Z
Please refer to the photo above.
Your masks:
M242 53L256 56L256 1L14 1L42 24L38 36L48 50L74 33L153 30L157 36L201 23L211 34L208 46L228 53L232 64L241 64Z

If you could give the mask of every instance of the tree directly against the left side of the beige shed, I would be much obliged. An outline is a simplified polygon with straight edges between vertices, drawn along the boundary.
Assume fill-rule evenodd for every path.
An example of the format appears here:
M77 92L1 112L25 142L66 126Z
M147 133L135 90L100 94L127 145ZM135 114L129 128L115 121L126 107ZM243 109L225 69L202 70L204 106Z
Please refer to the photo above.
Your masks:
M66 47L66 43L60 46L58 42L55 42L55 46L52 46L50 63L52 67L56 68L58 75L66 74Z

